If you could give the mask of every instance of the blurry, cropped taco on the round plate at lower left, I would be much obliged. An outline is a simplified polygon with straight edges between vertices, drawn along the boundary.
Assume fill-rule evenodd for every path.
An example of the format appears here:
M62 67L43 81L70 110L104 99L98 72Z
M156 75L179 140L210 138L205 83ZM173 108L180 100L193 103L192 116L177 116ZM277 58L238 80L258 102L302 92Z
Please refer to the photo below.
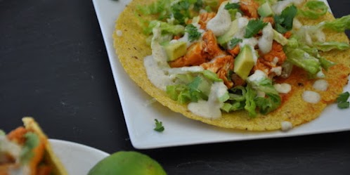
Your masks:
M0 133L0 174L67 174L34 119L23 122L25 127Z

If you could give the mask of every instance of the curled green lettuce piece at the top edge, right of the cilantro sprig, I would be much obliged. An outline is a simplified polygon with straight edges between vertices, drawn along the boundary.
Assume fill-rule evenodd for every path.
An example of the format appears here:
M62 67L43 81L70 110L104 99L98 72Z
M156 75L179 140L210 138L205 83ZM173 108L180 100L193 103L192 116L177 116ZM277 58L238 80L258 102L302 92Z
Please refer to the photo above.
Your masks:
M307 18L316 20L328 12L328 6L323 1L308 1L304 5L306 10L299 10L299 14Z

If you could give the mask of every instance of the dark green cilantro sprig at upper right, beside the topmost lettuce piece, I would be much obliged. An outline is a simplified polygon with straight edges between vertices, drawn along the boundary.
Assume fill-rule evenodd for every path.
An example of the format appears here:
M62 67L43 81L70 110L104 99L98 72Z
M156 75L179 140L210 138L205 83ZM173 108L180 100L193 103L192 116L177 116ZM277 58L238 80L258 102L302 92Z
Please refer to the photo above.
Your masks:
M292 30L293 19L297 15L297 7L292 5L282 11L280 15L275 15L276 30L281 34Z

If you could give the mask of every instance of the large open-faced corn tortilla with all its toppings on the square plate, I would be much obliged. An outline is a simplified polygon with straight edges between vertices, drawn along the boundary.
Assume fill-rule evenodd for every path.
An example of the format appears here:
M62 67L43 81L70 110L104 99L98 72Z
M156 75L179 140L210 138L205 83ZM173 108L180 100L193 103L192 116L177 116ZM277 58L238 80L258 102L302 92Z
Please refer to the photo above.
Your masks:
M344 30L350 15L332 19L323 1L140 3L132 2L117 21L119 59L139 86L187 117L249 130L278 129L288 121L297 125L317 117L347 83L350 46ZM130 22L135 19L137 30ZM129 46L140 55L127 56L123 49ZM139 58L144 58L145 73L136 75L129 66ZM156 94L140 78L164 93ZM303 119L299 105L316 114Z

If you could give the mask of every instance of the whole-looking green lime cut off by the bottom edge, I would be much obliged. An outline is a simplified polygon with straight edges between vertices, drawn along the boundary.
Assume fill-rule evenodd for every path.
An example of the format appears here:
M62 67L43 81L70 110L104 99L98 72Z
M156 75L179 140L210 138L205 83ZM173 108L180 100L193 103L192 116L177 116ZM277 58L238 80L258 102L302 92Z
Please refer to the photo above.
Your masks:
M148 155L119 151L98 162L88 175L166 175L162 166Z

